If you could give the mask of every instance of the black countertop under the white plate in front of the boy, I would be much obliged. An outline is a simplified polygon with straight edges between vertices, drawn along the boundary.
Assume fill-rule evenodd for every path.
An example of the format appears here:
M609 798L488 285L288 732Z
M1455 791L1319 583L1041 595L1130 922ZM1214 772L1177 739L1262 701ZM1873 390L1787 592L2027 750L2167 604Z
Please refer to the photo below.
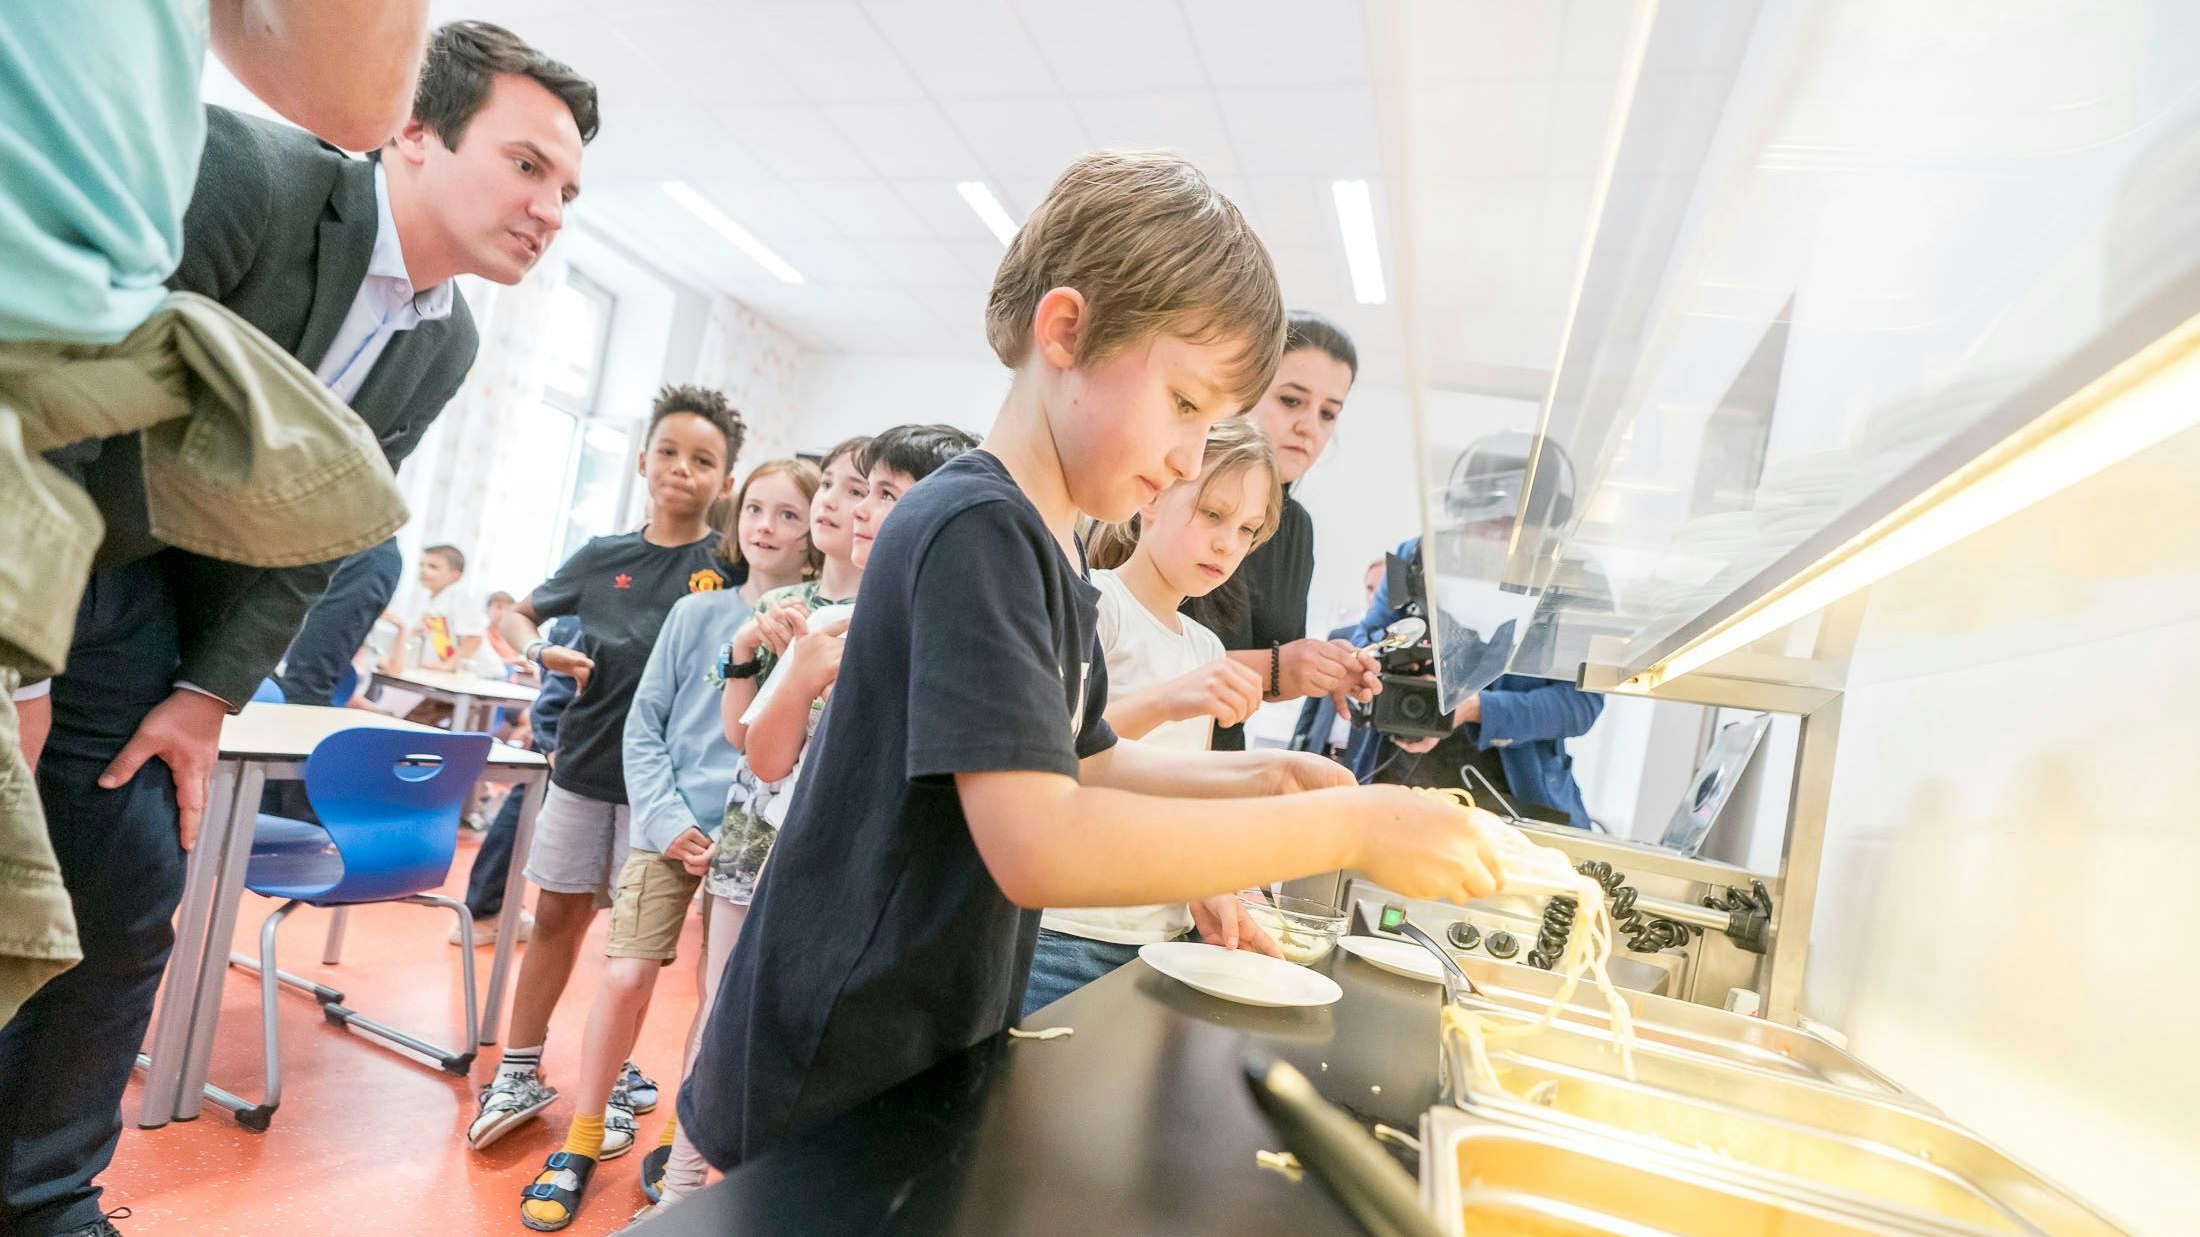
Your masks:
M1311 1175L1254 1164L1283 1140L1245 1090L1245 1052L1291 1061L1362 1125L1417 1134L1441 988L1344 951L1318 971L1344 999L1265 1010L1133 962L1025 1021L1076 1035L979 1043L636 1233L1357 1237Z

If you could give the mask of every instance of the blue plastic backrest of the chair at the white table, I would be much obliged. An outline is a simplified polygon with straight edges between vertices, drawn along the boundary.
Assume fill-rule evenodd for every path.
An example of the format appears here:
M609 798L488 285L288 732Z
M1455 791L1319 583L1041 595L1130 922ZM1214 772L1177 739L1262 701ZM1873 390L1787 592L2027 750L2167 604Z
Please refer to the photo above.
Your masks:
M343 878L315 902L378 902L442 885L458 819L488 764L488 735L361 726L306 757L306 799L343 856Z

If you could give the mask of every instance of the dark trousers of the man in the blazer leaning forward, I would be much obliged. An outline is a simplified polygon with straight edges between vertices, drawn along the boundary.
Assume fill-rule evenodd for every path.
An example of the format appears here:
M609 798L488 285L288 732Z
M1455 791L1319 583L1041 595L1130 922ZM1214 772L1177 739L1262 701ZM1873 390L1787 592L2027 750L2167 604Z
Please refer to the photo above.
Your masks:
M161 570L92 572L37 762L84 962L0 1028L0 1233L11 1237L66 1233L101 1215L92 1180L123 1131L123 1087L174 946L185 856L165 764L145 762L117 790L97 779L167 698L176 665L176 610Z

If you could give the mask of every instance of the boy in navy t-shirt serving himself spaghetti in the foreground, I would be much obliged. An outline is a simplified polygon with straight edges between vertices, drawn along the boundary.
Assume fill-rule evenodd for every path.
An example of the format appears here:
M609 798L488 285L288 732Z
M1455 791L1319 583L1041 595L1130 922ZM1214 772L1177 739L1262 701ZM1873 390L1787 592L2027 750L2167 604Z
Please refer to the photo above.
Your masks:
M1192 478L1283 348L1236 207L1175 156L1080 158L1010 244L986 335L1008 398L880 530L680 1092L722 1169L1008 1028L1034 907L1221 907L1338 867L1423 898L1498 885L1494 817L1351 786L1307 753L1118 744L1102 715L1076 519L1126 519Z

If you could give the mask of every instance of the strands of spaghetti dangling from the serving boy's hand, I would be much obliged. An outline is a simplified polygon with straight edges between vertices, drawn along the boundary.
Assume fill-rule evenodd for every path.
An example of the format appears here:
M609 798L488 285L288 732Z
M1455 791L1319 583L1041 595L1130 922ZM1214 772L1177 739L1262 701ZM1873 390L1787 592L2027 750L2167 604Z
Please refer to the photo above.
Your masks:
M1474 808L1474 797L1465 790L1426 788L1421 795L1448 799L1461 810ZM1542 1015L1533 1021L1492 1017L1481 1010L1445 1004L1443 1032L1448 1037L1463 1037L1467 1043L1467 1059L1474 1068L1474 1079L1485 1090L1503 1092L1505 1083L1498 1081L1496 1070L1489 1065L1489 1046L1494 1041L1520 1039L1549 1028L1558 1019L1558 1010L1566 1008L1573 999L1573 990L1586 973L1604 995L1613 1041L1619 1046L1619 1068L1628 1079L1632 1079L1635 1019L1628 1015L1628 1006L1619 999L1619 993L1613 988L1613 979L1606 973L1606 962L1613 955L1613 911L1604 900L1604 887L1575 872L1562 852L1529 841L1527 834L1516 828L1492 832L1498 841L1498 867L1503 869L1507 894L1573 898L1573 931L1566 935L1564 951L1553 964L1553 971L1560 975L1560 986L1558 993L1551 995Z

